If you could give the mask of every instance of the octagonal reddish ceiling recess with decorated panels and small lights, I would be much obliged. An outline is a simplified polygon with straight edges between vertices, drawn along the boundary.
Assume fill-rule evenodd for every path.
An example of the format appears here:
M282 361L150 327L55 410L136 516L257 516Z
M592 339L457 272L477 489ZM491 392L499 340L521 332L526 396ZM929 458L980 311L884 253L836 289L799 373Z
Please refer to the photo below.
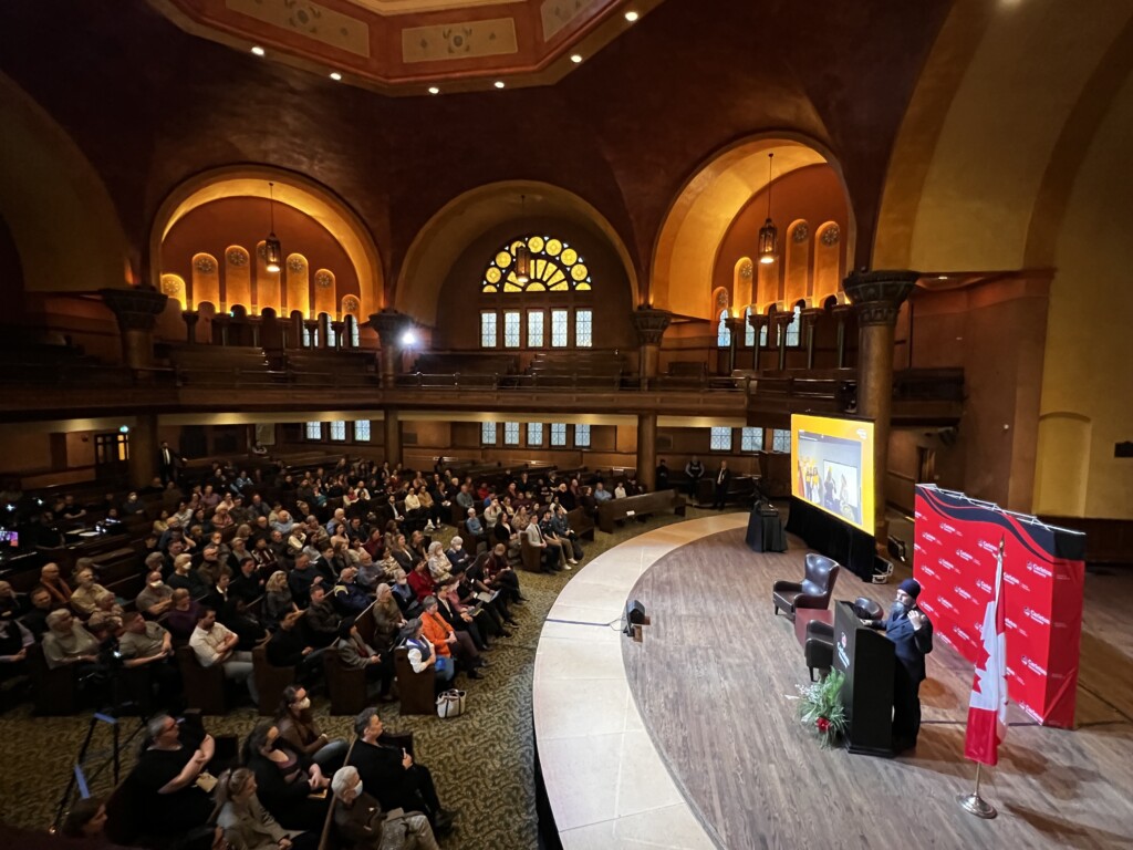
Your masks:
M547 85L663 0L150 0L181 28L348 85Z

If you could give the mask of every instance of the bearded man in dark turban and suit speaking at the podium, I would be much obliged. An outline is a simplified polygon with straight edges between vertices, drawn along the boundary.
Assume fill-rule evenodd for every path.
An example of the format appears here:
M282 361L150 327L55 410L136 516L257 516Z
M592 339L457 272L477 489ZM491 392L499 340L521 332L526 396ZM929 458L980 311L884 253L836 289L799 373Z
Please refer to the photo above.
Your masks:
M884 629L893 641L897 663L893 665L893 751L917 746L920 732L920 683L925 681L925 656L932 652L932 621L917 607L920 583L906 578L897 585L897 597L885 620L866 624Z

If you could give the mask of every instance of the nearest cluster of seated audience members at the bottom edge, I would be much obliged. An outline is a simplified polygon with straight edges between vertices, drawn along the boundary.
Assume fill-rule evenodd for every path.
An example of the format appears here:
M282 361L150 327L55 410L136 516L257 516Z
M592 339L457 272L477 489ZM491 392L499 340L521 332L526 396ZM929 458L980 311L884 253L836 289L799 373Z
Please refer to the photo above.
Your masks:
M62 833L169 850L436 850L458 811L441 805L412 737L386 733L374 708L353 729L352 743L320 733L298 686L232 756L198 716L159 714L112 798L77 801Z

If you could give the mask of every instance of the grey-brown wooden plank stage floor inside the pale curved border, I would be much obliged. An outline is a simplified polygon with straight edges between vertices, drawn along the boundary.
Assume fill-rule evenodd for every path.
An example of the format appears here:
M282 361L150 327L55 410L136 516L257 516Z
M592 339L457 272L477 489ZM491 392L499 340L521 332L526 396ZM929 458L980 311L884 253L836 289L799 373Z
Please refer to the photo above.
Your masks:
M790 543L757 554L742 528L712 534L662 556L630 593L651 619L644 643L622 643L630 692L718 847L1133 848L1133 575L1087 577L1079 729L1043 729L1012 707L999 765L985 772L999 817L980 821L956 804L974 775L963 758L972 669L943 643L914 754L820 750L795 719L808 672L770 602L775 579L802 575L806 547ZM875 586L844 572L835 597L887 607L905 575Z

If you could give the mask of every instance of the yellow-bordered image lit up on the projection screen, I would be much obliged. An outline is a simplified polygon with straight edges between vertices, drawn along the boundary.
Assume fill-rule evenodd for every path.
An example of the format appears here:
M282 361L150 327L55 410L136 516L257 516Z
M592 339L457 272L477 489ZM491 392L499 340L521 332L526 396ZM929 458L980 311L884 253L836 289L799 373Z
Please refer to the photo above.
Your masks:
M792 494L872 534L872 423L792 416L791 452Z

